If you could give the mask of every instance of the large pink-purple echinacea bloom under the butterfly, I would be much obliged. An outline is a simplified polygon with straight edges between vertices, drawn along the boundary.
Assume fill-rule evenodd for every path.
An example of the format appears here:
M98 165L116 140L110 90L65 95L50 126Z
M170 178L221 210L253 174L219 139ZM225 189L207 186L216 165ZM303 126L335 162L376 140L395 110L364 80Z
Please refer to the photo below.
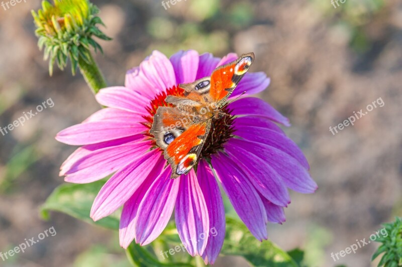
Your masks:
M267 239L268 221L285 220L288 189L312 193L302 151L275 124L288 120L269 104L254 97L240 98L224 111L230 115L213 122L197 170L170 179L162 150L149 133L158 107L167 95L181 96L181 83L210 76L223 59L196 51L178 52L170 59L154 51L139 67L128 71L125 86L99 91L96 100L106 106L56 139L82 145L61 166L67 182L89 183L114 175L95 198L90 216L104 218L123 206L120 243L135 240L146 245L166 227L173 209L178 234L188 253L214 263L225 237L225 211L215 177L251 233ZM242 92L255 94L269 85L264 73L247 73L231 99ZM215 228L216 236L208 236ZM200 236L207 235L205 238Z

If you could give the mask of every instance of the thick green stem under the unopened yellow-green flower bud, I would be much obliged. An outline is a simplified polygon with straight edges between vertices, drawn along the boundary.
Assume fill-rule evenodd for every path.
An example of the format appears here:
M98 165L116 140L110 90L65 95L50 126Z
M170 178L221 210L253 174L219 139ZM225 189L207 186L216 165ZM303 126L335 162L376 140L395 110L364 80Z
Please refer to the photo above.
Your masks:
M78 66L81 71L82 76L89 88L92 90L93 94L97 94L100 89L107 87L104 75L100 72L95 60L93 59L91 53L87 53L89 57L89 63L86 62L81 56L78 57Z

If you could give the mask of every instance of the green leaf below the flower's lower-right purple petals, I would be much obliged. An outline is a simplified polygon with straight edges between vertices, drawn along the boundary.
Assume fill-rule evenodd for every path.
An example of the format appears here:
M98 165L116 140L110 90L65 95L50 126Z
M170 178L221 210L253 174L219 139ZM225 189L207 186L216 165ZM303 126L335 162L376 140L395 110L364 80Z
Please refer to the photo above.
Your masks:
M226 236L221 253L241 255L252 266L298 266L285 251L269 240L258 241L242 222L233 218L226 219Z

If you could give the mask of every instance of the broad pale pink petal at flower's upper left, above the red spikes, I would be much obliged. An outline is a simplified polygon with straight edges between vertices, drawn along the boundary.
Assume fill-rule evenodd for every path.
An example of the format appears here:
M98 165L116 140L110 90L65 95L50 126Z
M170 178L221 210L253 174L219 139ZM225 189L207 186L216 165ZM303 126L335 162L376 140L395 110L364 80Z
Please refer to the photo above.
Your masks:
M144 75L156 92L163 92L177 84L172 64L159 51L155 50L141 63L140 71L139 76Z

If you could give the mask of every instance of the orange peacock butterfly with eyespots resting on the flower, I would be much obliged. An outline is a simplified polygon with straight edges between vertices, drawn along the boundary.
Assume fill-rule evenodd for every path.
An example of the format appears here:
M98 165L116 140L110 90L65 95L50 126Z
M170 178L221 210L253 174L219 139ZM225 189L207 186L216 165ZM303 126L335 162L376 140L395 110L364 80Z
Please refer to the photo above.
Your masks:
M254 53L216 68L210 77L179 84L184 97L167 96L173 107L159 107L150 133L172 167L170 178L187 174L198 162L213 120L225 116L221 108L254 61Z

